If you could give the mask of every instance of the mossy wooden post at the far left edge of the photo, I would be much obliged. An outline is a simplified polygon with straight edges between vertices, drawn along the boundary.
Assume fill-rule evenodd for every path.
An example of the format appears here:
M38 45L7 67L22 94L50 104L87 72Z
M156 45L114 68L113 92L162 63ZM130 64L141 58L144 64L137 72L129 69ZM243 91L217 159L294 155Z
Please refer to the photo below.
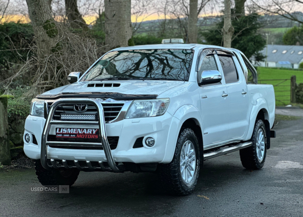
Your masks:
M11 164L9 141L8 98L0 96L0 162L3 165Z

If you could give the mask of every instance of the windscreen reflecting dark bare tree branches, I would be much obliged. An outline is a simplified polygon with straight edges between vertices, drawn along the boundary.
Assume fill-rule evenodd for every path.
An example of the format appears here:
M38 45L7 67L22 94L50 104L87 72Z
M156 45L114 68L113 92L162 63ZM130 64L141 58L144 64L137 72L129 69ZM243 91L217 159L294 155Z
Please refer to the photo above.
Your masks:
M192 50L155 49L113 51L100 59L81 79L91 80L181 80L187 81Z

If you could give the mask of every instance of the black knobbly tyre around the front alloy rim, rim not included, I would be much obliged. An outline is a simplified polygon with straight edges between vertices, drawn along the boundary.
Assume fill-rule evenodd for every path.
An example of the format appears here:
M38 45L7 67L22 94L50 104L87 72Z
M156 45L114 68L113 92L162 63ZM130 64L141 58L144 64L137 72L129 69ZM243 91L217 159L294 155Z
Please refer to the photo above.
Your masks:
M190 141L195 150L195 171L192 180L185 183L181 177L180 156L183 145L186 141ZM168 164L162 164L160 167L160 176L165 190L173 195L188 195L190 194L198 180L200 169L200 155L198 139L190 128L181 128L173 160Z

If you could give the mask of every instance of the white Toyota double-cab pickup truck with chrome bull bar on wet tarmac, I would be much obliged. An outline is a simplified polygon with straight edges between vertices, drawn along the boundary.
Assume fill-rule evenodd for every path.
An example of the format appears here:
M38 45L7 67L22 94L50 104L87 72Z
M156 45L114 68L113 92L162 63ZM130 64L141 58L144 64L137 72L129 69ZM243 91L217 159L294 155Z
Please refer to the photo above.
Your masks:
M112 50L32 100L24 152L42 185L73 185L80 170L159 171L186 195L204 160L240 150L245 168L263 167L273 86L238 50L166 41Z

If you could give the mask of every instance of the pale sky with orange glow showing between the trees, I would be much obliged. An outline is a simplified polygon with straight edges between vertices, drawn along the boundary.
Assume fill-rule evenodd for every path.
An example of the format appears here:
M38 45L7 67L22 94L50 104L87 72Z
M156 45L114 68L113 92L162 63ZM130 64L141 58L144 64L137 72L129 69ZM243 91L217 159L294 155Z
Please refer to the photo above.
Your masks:
M25 0L0 0L0 18L2 17L3 9L6 7L8 1L10 1L6 16L1 22L29 22L27 5ZM148 20L163 19L164 13L164 0L131 0L132 1L132 22L141 22ZM173 1L173 0L169 0ZM176 1L176 0L175 0ZM185 0L189 1L189 0ZM251 5L251 1L258 2L258 4L266 5L272 0L247 0L246 6ZM288 4L283 5L283 9L292 11L303 12L303 4L289 4L289 0L278 0L285 1ZM291 1L291 0L290 0ZM216 16L221 14L221 10L224 7L223 0L211 0L205 9L199 15L202 16ZM233 1L231 1L233 3ZM98 14L98 10L102 11L104 5L104 0L78 0L78 8L86 21L87 24L91 24L95 21ZM142 10L142 6L144 10ZM64 15L64 0L53 0L52 9L57 17ZM172 5L170 5L172 7ZM248 7L246 7L247 9ZM138 13L141 11L141 13Z

